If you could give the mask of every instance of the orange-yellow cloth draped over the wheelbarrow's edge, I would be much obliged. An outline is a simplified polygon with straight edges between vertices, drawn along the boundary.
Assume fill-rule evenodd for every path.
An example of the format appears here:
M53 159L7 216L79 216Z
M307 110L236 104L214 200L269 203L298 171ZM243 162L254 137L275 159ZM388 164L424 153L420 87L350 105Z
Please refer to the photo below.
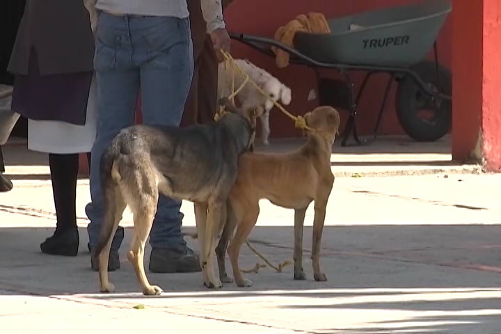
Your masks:
M298 15L285 26L280 26L275 33L275 39L283 44L294 47L294 36L298 31L305 33L331 33L331 28L328 26L327 20L322 13L308 13L308 15ZM289 53L278 49L271 48L276 55L276 64L283 68L289 65Z

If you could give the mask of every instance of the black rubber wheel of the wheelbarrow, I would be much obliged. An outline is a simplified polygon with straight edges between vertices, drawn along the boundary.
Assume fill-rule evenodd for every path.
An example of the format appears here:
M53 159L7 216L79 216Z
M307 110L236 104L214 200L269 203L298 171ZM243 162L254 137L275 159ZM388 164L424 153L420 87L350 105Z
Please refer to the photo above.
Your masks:
M437 75L436 64L427 61L412 70L434 92L452 94L452 75L447 68L439 65ZM452 103L434 100L408 74L399 82L396 109L401 127L416 141L437 141L450 131Z

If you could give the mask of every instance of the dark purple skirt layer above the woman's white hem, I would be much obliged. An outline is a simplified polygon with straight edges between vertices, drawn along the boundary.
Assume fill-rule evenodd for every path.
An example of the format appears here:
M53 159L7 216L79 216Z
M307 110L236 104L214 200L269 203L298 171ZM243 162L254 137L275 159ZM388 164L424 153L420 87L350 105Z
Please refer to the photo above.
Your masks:
M14 80L12 109L31 120L58 120L85 125L93 72L40 75L33 50L29 74Z

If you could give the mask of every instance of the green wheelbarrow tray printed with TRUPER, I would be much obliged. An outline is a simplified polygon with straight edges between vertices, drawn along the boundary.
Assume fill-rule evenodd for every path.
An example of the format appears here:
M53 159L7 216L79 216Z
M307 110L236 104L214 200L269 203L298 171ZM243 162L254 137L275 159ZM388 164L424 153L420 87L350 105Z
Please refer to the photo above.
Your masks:
M333 18L331 33L296 33L294 48L324 63L415 65L427 57L451 11L450 0L426 0Z

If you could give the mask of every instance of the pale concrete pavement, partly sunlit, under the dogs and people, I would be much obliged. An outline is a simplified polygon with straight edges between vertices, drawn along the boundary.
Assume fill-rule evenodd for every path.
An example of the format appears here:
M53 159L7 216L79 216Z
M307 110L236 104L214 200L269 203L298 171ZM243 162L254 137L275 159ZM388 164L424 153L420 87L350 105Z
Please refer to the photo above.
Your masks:
M99 293L86 251L86 179L79 180L77 196L79 256L40 253L40 241L54 228L45 157L11 145L5 155L15 189L0 194L1 331L501 333L501 175L451 164L447 142L439 144L389 139L365 154L360 148L333 154L337 178L321 260L328 282L312 280L310 208L308 280L292 280L292 267L283 273L264 268L246 274L252 288L226 284L211 291L198 273L148 273L165 291L148 298L138 293L125 257L129 213L122 223L122 269L111 273L117 292ZM273 150L290 145L280 142ZM185 202L183 211L184 231L193 234L193 208ZM274 263L292 260L292 220L290 210L262 202L250 241ZM198 249L196 240L187 240ZM259 262L243 249L242 267Z

